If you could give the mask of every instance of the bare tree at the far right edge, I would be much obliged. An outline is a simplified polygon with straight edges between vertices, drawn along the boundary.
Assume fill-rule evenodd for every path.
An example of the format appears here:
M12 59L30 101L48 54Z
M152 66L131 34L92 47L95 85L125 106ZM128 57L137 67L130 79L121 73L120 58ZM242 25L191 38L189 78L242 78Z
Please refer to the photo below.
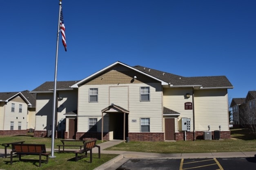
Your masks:
M256 137L256 107L255 101L243 103L239 107L240 124L248 128L249 131Z

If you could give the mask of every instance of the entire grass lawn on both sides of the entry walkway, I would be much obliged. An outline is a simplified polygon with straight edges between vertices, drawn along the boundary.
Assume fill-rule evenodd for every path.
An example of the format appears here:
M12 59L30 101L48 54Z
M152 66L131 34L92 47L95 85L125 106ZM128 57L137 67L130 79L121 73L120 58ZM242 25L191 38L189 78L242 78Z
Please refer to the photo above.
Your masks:
M47 148L51 148L51 138L37 138L33 135L18 135L18 136L0 136L0 144L8 142L25 141L29 144L45 144ZM98 141L100 143L101 141ZM60 139L55 139L54 148L56 145L62 144ZM66 144L66 143L65 143ZM67 143L68 144L68 143ZM0 146L4 148L4 146ZM56 150L55 149L55 150ZM256 151L256 139L249 133L247 129L231 129L231 139L220 140L196 140L196 141L177 141L177 142L128 142L120 143L106 150L127 150L136 152L151 152L151 153L208 153L208 152L238 152L238 151ZM111 160L117 155L101 154L101 159L98 159L98 154L93 154L93 162L89 163L89 157L74 161L74 153L54 153L56 158L49 158L49 163L42 163L44 170L93 170L103 163ZM29 159L38 159L39 156L26 156ZM26 158L27 159L27 158ZM45 157L43 157L45 159ZM30 170L39 168L39 163L18 161L18 158L13 159L13 165L10 165L10 158L0 158L0 168L6 170Z

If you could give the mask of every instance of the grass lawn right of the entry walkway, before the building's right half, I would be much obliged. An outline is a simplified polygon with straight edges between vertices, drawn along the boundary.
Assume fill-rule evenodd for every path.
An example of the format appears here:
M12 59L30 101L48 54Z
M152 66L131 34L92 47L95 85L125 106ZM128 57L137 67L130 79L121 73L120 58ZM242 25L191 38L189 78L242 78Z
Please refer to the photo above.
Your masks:
M256 139L247 129L231 129L231 139L177 142L120 143L106 150L127 150L150 153L209 153L256 151Z

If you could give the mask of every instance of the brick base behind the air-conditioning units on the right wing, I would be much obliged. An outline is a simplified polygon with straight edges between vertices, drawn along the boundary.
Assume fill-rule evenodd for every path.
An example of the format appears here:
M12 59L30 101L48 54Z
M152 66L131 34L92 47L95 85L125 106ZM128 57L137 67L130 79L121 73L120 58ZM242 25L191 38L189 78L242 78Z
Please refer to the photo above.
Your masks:
M196 138L196 140L203 140L204 132L196 131L195 138ZM211 131L211 139L214 139L214 131ZM220 131L220 139L230 139L230 131ZM176 132L175 140L176 141L185 140L184 132ZM193 132L186 132L186 140L194 140Z

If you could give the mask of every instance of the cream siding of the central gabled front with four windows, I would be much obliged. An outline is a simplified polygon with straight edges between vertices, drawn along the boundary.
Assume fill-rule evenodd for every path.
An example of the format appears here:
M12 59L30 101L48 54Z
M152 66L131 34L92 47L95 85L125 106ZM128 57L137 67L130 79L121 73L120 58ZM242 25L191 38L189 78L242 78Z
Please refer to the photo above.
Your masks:
M147 86L150 86L150 101L140 102L140 87ZM98 102L89 102L89 88L98 88ZM163 131L160 83L129 84L129 87L128 84L82 85L79 87L78 99L78 132L88 131L88 118L101 120L101 110L108 107L111 102L129 110L129 132L140 132L140 118L150 118L151 132ZM108 131L108 119L106 120L105 117L104 131ZM136 120L136 123L132 123L132 119ZM98 128L99 126L101 122L98 122ZM101 129L98 130L101 131Z

